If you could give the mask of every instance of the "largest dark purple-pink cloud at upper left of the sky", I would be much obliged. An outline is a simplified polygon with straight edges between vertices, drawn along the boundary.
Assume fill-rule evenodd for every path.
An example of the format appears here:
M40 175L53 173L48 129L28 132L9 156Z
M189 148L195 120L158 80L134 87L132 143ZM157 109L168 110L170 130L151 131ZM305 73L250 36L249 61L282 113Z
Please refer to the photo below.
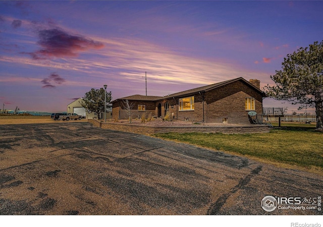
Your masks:
M71 35L58 28L44 29L38 31L39 41L42 48L29 53L33 59L49 59L52 57L74 57L79 52L88 49L100 49L104 45L78 35Z

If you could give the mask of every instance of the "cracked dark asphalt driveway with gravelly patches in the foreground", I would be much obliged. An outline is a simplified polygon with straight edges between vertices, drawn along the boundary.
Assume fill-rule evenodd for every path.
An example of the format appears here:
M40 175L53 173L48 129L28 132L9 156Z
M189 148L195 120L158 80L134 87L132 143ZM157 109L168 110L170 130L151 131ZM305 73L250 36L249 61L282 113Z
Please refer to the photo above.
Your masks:
M313 174L89 123L0 126L0 214L322 214L260 206L267 195L317 198L322 185Z

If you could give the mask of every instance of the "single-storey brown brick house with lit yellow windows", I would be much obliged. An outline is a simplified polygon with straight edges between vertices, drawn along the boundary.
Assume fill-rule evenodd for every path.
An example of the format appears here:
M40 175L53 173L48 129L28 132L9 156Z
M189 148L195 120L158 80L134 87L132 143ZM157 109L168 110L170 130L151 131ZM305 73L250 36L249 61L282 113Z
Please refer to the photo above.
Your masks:
M242 77L202 86L164 97L131 95L112 101L112 118L128 119L124 100L133 105L132 118L147 117L149 113L164 118L169 111L171 119L205 123L250 124L248 111L261 116L262 99L259 80Z

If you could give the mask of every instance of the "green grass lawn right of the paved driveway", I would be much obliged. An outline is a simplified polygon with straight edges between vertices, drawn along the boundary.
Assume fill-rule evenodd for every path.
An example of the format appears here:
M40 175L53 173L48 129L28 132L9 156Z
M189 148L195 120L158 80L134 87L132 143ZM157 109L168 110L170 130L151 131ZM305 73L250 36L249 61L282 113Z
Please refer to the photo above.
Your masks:
M154 136L245 155L279 166L311 169L322 175L323 133L315 132L315 125L282 123L281 126L263 134L165 133Z

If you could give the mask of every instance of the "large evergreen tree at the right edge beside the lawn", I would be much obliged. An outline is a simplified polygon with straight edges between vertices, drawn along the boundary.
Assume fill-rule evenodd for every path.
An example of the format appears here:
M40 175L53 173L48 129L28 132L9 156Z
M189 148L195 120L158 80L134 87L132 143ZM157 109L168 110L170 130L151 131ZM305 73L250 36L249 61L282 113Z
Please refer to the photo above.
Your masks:
M316 129L323 131L323 41L287 54L271 79L276 85L265 86L268 96L300 104L299 109L315 107Z

